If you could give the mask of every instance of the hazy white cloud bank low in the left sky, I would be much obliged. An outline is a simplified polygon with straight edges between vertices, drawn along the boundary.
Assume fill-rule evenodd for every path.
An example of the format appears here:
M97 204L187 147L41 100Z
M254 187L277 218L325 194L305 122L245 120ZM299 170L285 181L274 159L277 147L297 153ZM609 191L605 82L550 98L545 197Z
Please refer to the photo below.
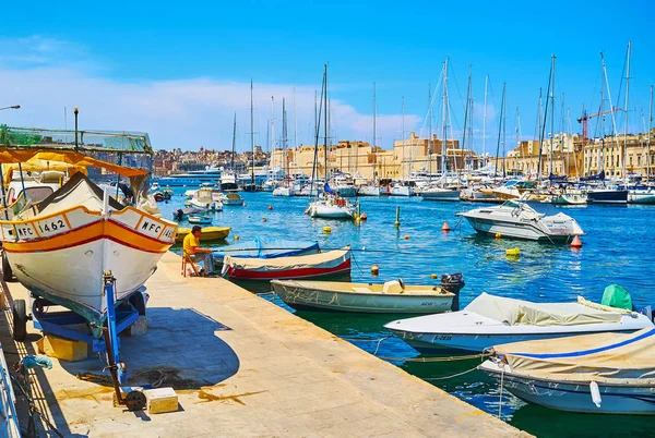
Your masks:
M233 115L237 112L238 148L250 147L250 84L198 77L192 80L121 82L103 77L88 51L55 38L33 36L0 39L0 122L13 125L68 127L80 107L80 127L146 131L155 148L227 149L231 147ZM71 68L69 65L75 65ZM84 65L84 68L78 68ZM335 86L337 86L335 84ZM266 142L275 96L276 134L282 133L282 98L286 98L289 144L294 139L293 85L254 84L255 144ZM296 86L298 143L313 143L314 88ZM372 115L338 99L331 101L331 132L337 139L371 139ZM405 117L408 133L419 122ZM400 138L401 115L378 117L378 143ZM332 135L332 134L331 134ZM408 134L407 134L408 135Z

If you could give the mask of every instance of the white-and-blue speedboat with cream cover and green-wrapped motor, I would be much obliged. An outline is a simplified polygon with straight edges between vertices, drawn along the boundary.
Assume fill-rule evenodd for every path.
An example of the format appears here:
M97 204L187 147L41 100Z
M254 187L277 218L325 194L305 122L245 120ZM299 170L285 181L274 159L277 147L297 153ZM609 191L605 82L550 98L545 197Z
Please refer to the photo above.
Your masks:
M414 349L483 352L492 345L654 327L646 315L579 299L577 303L533 303L483 293L463 311L398 319L384 326Z

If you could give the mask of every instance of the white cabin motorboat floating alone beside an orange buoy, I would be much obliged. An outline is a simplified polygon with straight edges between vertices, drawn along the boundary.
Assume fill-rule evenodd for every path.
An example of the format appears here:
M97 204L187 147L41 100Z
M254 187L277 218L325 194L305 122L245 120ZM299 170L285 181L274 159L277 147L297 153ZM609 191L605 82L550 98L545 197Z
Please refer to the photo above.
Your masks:
M575 235L584 234L572 217L563 212L546 216L527 203L515 199L499 206L457 212L455 216L466 218L480 234L546 242L568 242Z

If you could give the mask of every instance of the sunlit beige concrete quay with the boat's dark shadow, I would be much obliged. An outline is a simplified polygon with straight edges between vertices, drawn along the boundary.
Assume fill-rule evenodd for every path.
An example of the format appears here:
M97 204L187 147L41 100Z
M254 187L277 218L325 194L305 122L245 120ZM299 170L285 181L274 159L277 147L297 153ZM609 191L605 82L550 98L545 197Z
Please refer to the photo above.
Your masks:
M97 357L53 360L53 369L36 372L36 393L63 435L527 436L228 281L179 270L179 257L167 254L146 283L147 334L121 338L131 384L183 388L179 411L112 407L108 382L75 377L102 374ZM14 300L27 296L20 283L9 288ZM9 330L1 331L11 350ZM19 352L34 352L32 332Z

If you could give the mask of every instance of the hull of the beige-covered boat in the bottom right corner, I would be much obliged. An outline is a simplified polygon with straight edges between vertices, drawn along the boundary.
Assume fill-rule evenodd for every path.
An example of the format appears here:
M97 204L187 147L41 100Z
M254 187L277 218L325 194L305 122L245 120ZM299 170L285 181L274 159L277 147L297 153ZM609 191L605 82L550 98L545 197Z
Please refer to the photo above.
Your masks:
M655 415L655 388L639 385L609 385L599 382L600 406L592 400L590 382L537 379L512 373L505 364L502 368L491 361L480 369L497 380L517 398L559 411L588 414ZM638 380L636 380L638 381Z

